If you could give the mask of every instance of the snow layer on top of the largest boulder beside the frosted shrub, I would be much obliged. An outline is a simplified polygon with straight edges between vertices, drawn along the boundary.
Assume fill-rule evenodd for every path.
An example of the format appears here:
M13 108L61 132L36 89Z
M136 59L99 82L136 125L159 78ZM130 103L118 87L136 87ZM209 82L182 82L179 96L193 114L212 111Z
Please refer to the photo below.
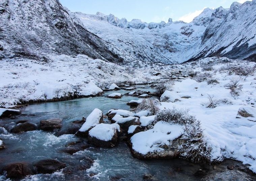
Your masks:
M157 122L153 129L136 133L131 138L133 149L143 155L149 152L161 152L160 146L170 145L170 141L178 138L183 133L180 125L167 122Z

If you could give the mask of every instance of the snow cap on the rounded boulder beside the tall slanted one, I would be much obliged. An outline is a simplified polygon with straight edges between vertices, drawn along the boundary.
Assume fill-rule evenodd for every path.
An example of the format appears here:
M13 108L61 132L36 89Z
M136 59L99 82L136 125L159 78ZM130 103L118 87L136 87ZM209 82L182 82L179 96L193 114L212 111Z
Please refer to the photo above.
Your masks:
M99 140L110 141L113 138L116 130L117 128L115 125L101 123L93 127L89 131L89 135Z

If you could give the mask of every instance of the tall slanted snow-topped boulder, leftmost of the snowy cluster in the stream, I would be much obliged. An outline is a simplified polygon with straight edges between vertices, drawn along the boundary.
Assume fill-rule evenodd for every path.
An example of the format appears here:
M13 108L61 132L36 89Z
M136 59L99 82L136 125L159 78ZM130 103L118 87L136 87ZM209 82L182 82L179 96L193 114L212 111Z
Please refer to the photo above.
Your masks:
M103 123L103 113L96 108L86 118L85 123L76 132L76 136L87 137L89 130L99 123Z

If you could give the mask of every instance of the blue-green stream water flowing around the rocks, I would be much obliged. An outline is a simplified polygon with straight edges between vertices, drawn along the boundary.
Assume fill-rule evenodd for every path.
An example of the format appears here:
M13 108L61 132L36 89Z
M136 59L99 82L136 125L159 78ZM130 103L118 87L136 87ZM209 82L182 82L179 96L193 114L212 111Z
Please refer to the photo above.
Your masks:
M153 91L145 86L137 86L138 89ZM39 124L40 120L49 118L62 118L63 127L68 123L87 117L93 109L98 108L107 113L108 110L129 110L126 105L130 100L138 100L137 97L123 96L121 99L107 98L113 92L127 93L130 91L108 91L100 97L81 98L60 102L47 102L28 105L21 109L24 116L17 119L0 120L0 126L10 130L19 120L28 120ZM107 121L105 119L105 121ZM42 130L28 131L24 133L10 134L0 129L0 138L4 141L6 148L0 151L0 169L8 163L27 162L32 164L42 159L58 159L65 162L72 173L65 174L64 171L53 174L37 174L28 176L26 181L62 181L62 180L143 180L143 175L150 173L153 180L255 180L255 177L247 172L241 171L245 168L240 162L226 160L221 165L193 164L191 162L172 160L138 160L131 156L129 148L125 143L120 143L114 148L90 147L69 155L59 150L66 144L78 141L72 134L64 134L56 137L51 132ZM94 160L90 169L85 171L76 170L76 165L81 164L85 157ZM227 165L234 165L234 170L227 170ZM0 176L1 180L8 180Z

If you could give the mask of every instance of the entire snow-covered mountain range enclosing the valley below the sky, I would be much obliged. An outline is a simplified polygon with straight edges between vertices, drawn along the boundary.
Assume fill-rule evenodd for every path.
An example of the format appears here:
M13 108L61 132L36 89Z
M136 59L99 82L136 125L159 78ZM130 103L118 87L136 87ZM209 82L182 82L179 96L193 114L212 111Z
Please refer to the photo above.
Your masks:
M85 54L111 62L180 63L212 56L255 61L256 0L206 8L191 23L128 22L70 12L58 0L3 0L0 58Z

